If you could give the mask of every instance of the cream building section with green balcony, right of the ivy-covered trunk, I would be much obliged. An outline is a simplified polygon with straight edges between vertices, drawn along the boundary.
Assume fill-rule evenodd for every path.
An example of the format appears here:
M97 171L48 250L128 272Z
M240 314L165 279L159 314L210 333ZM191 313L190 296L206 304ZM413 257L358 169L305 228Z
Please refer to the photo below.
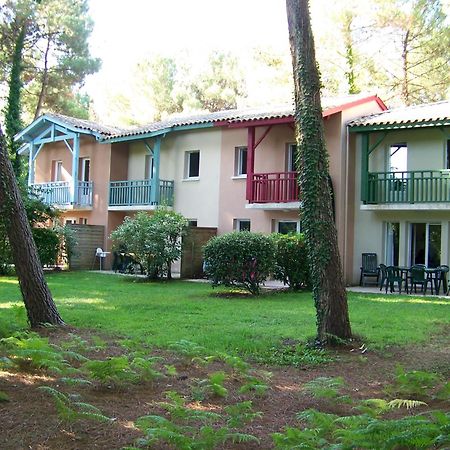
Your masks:
M349 124L354 261L362 252L410 267L449 265L450 102L361 117Z

